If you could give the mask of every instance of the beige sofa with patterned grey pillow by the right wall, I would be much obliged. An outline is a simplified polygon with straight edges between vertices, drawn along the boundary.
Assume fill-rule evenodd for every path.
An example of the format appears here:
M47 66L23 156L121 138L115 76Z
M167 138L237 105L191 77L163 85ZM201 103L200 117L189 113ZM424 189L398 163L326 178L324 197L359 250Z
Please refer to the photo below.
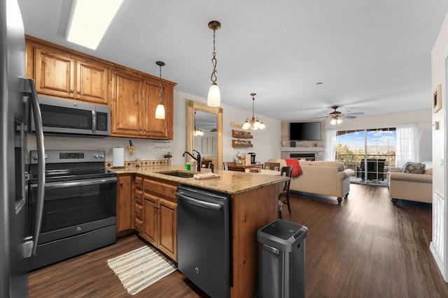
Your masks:
M391 167L388 177L389 195L393 204L398 200L433 202L433 167L430 161L423 161L422 174L401 172L401 167Z

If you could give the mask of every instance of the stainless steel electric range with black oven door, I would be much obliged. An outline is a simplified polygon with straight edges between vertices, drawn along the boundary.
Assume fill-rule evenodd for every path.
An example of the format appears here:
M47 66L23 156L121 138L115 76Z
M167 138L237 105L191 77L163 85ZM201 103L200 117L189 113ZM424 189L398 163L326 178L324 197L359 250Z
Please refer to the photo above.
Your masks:
M38 165L30 152L30 230L38 224ZM101 150L46 150L41 233L29 270L116 242L117 175L104 168Z

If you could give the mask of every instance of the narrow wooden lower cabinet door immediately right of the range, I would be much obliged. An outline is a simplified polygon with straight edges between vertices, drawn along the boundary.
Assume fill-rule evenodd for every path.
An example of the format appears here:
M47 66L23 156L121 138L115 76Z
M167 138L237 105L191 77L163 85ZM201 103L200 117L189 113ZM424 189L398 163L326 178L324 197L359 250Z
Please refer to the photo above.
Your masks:
M132 176L118 176L117 179L117 233L132 229Z

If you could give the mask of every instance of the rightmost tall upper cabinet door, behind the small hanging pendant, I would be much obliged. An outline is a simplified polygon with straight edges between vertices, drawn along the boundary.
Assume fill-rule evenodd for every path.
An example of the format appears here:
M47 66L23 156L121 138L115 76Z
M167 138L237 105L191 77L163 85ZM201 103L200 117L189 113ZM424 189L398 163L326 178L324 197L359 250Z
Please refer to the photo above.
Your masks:
M144 80L144 135L160 139L173 138L173 87L162 85L165 119L155 119L155 109L159 104L159 82Z

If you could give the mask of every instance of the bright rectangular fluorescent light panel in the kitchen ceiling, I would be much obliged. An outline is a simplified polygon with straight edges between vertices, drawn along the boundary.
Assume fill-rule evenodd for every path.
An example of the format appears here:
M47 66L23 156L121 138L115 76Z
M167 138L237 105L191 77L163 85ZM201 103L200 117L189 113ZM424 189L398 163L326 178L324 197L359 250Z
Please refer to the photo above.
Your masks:
M74 0L67 40L96 50L123 0Z

